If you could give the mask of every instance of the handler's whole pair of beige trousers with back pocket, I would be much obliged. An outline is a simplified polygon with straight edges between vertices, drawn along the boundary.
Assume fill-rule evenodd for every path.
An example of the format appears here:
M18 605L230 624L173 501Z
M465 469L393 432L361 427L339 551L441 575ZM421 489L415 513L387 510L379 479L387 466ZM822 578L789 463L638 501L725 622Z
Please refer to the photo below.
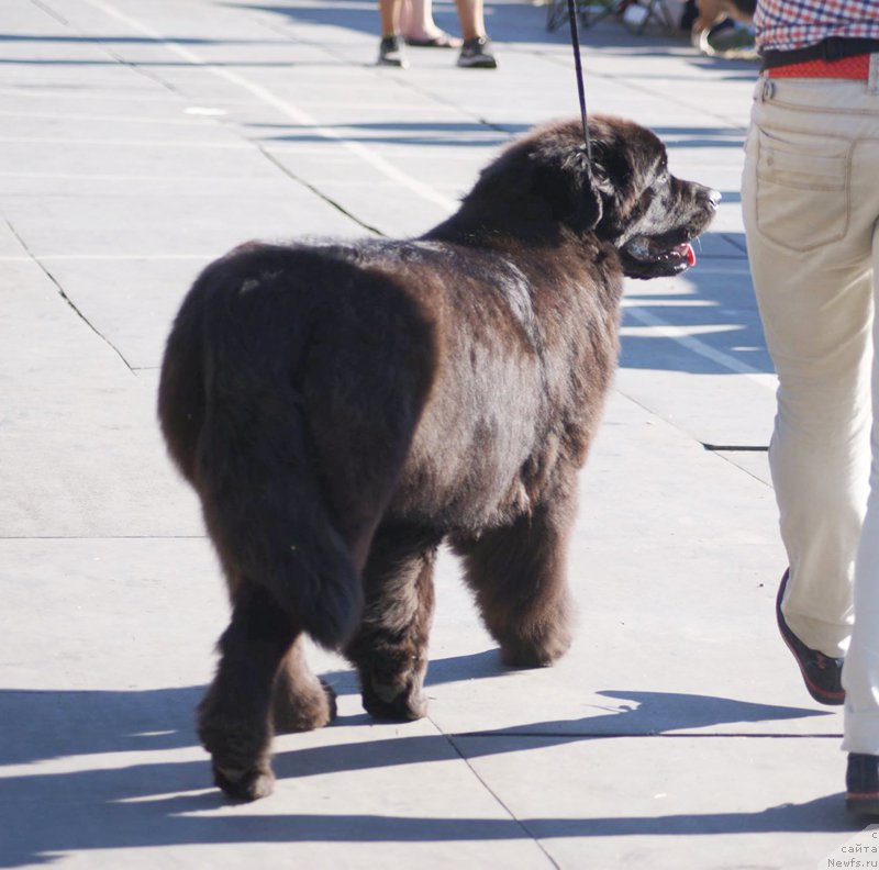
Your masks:
M782 612L845 656L845 740L879 755L879 55L869 81L758 81L742 201L778 413Z

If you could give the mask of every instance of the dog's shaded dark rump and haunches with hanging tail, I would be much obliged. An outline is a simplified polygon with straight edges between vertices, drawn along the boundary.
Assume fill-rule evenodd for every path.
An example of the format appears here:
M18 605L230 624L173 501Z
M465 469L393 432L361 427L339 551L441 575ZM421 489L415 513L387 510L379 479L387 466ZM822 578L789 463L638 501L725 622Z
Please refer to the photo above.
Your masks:
M405 328L380 331L382 308ZM364 321L377 326L371 342ZM233 599L257 583L320 643L351 636L429 355L426 327L392 282L331 249L243 246L202 272L168 339L158 414ZM370 405L376 390L385 414Z

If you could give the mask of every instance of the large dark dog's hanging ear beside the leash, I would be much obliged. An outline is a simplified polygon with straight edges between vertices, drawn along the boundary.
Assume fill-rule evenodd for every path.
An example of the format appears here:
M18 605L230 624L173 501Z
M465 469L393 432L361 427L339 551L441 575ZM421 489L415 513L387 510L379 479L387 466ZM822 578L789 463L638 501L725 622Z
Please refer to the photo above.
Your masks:
M603 213L604 175L590 164L586 148L580 146L566 155L537 152L532 159L534 190L549 204L553 217L577 232L594 230Z

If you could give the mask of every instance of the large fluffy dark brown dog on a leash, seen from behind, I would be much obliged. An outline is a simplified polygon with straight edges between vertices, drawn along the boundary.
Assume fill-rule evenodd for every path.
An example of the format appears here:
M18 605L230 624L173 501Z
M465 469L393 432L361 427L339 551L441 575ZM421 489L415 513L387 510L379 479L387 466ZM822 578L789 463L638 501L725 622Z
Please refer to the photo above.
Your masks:
M533 131L415 241L251 243L196 281L159 416L198 491L232 622L199 734L230 795L268 794L274 728L325 725L301 635L376 716L424 715L432 569L448 537L504 661L570 639L577 470L617 354L623 275L669 276L720 194L593 119Z

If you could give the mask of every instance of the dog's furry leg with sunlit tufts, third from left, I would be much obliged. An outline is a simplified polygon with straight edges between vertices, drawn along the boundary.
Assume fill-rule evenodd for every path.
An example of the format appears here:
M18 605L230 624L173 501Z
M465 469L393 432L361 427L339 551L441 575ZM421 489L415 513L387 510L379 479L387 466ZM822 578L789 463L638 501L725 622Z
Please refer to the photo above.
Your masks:
M439 536L412 528L377 532L364 571L366 606L345 650L357 666L364 707L377 718L416 720L433 618L433 566Z

